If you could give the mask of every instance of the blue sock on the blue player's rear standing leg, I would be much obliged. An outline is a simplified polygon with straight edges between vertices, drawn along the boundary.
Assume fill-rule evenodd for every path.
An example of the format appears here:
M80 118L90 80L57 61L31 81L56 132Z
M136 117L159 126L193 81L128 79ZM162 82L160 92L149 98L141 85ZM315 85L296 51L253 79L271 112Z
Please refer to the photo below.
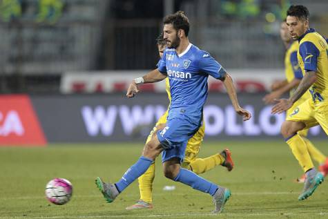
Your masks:
M204 193L209 193L211 196L214 196L215 191L218 189L216 184L201 178L196 173L193 173L187 169L180 168L180 172L177 174L177 177L174 181L182 182L183 184L187 184L193 189L197 189Z

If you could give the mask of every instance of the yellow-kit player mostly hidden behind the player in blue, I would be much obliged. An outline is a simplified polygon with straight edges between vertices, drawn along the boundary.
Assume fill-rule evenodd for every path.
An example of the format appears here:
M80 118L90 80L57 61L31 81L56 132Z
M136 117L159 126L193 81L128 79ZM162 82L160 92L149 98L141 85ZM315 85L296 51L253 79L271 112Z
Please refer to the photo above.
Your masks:
M157 48L158 53L160 53L160 57L162 58L164 50L166 48L166 40L163 38L163 34L157 37ZM171 92L170 92L170 82L168 81L168 77L165 79L166 83L166 93L168 95L168 99L171 102ZM157 121L153 131L148 135L146 143L151 140L153 133L157 131L157 128L166 124L166 117L168 115L168 110L160 117L160 120ZM215 166L222 165L226 166L228 171L233 169L233 160L231 158L231 152L229 149L225 149L221 153L216 153L215 155L211 155L208 158L197 158L197 154L200 151L200 144L202 143L205 131L205 124L203 121L202 126L198 129L197 133L189 139L186 145L186 151L184 154L184 161L181 166L184 169L189 169L196 174L205 173L213 169ZM137 203L126 207L126 210L134 210L134 209L152 209L153 208L153 181L155 178L155 162L149 166L148 170L142 174L138 178L139 182L139 192L140 199Z

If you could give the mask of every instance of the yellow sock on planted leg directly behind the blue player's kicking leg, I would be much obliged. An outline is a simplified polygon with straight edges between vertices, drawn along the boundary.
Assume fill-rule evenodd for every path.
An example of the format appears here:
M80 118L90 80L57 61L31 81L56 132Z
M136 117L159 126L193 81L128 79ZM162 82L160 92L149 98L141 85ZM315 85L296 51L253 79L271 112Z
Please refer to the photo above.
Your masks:
M155 178L155 162L138 178L140 199L144 202L153 202L153 181Z

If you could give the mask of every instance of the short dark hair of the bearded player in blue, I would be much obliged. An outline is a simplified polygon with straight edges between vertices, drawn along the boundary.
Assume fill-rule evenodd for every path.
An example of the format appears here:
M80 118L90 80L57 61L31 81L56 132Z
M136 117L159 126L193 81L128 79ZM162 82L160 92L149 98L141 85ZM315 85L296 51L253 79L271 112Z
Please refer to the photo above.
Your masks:
M186 17L183 11L175 12L173 15L167 15L163 20L164 24L172 24L175 30L184 30L186 37L189 33L189 19Z

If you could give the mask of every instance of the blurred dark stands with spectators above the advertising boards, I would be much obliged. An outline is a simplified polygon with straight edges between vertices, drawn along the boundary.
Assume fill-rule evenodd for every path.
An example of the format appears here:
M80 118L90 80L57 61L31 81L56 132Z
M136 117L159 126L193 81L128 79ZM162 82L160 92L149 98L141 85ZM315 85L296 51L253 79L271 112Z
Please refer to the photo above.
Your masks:
M307 6L310 26L328 35L322 0L0 0L0 92L59 93L67 72L155 68L162 17L177 10L191 42L227 69L282 69L291 4Z

